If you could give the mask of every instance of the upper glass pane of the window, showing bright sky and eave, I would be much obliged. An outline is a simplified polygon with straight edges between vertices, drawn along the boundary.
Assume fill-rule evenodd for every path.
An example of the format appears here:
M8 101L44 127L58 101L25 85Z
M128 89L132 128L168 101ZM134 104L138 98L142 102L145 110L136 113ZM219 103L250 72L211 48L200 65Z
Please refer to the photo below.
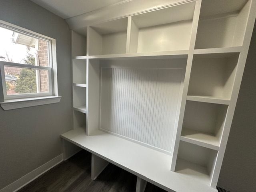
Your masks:
M0 27L0 61L49 66L49 44Z

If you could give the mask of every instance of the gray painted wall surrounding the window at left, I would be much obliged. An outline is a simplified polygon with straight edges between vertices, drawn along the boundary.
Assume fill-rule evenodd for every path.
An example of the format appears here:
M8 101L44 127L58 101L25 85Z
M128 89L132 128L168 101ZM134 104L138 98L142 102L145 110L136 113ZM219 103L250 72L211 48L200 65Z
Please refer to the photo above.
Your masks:
M70 30L29 0L0 0L0 20L56 39L60 103L0 108L0 189L60 155L60 134L72 128Z

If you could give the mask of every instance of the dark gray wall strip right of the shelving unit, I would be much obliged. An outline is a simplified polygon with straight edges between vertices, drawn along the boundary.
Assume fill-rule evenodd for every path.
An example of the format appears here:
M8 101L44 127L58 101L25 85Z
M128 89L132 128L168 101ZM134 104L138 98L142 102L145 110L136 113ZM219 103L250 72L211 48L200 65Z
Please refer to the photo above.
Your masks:
M218 184L231 192L256 191L256 24Z

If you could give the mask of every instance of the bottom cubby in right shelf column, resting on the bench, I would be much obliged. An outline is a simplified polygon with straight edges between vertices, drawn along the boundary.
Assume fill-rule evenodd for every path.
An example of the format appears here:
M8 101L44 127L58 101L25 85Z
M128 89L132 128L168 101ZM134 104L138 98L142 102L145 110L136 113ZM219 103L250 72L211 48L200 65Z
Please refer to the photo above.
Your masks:
M217 154L215 150L180 141L176 172L198 178L209 185Z

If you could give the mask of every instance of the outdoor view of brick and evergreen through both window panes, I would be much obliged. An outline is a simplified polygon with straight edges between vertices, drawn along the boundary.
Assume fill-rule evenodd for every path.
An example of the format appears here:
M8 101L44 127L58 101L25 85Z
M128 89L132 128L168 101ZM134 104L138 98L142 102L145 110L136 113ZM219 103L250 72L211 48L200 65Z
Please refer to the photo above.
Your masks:
M0 61L4 63L7 96L50 92L49 47L50 41L0 27Z

